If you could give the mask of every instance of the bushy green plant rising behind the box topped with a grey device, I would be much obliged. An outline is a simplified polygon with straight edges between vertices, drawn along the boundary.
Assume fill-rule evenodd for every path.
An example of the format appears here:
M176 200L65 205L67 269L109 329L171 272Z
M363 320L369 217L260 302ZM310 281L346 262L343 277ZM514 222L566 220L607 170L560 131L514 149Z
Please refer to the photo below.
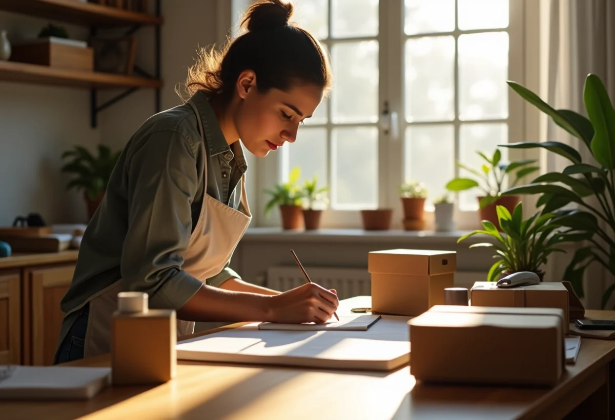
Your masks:
M531 271L544 278L542 266L547 257L553 252L564 252L561 244L586 238L588 235L576 228L563 228L561 219L566 216L554 213L536 212L533 216L523 220L523 204L518 203L512 214L504 206L496 206L499 225L502 233L488 220L483 220L482 230L475 230L461 236L457 243L473 235L488 235L495 239L494 243L478 243L474 247L493 247L494 258L488 274L487 281L496 281L498 276Z

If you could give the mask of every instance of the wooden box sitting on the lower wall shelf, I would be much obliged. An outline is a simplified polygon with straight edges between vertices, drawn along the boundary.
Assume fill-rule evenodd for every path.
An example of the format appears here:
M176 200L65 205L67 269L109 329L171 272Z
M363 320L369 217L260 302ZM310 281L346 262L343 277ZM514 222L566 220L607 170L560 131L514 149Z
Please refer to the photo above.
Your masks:
M14 44L10 60L66 70L93 71L94 67L93 50L85 42L56 37Z

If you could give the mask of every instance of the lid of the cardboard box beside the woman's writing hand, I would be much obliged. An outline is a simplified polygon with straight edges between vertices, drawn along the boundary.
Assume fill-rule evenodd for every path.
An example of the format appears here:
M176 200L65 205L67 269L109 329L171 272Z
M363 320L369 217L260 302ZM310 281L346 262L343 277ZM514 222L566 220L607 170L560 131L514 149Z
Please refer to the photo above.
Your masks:
M457 269L455 251L431 249L388 249L368 254L370 273L425 276L454 273Z

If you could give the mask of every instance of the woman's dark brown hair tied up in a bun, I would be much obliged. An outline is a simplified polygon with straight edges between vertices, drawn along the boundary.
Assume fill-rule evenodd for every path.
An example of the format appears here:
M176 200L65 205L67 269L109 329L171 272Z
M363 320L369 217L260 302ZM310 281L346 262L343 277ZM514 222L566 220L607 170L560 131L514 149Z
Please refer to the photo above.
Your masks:
M256 74L261 92L270 88L288 90L293 82L331 86L327 52L320 42L295 23L288 23L293 6L280 0L260 0L247 10L242 34L216 51L200 49L196 64L188 69L186 92L204 90L226 104L232 99L235 83L244 70Z

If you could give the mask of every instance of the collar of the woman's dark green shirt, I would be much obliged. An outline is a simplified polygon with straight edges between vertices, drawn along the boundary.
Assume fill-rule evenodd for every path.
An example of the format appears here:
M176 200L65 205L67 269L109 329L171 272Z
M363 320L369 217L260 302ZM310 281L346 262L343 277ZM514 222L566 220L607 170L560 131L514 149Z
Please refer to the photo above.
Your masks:
M231 147L229 147L226 139L224 138L224 134L222 133L222 129L220 128L220 124L218 123L218 118L216 117L215 112L211 104L209 103L209 99L207 98L207 94L203 91L197 91L192 98L190 99L194 105L196 105L196 109L199 110L200 119L203 123L203 130L205 131L205 140L207 143L207 147L209 149L210 156L220 155L226 152L231 152ZM235 162L237 163L237 168L239 168L242 172L248 169L248 163L245 160L244 148L241 144L241 141L237 141L233 144L232 153L235 156Z

